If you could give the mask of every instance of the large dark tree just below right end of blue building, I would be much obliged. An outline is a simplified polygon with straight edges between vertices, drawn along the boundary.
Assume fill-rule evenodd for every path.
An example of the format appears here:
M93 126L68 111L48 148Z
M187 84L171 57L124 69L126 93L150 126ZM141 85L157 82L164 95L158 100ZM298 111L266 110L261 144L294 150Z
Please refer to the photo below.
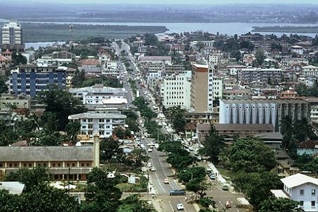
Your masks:
M80 100L56 86L49 86L47 91L41 91L38 99L40 103L46 105L45 113L55 114L58 121L58 130L65 129L65 126L69 123L69 115L87 111Z

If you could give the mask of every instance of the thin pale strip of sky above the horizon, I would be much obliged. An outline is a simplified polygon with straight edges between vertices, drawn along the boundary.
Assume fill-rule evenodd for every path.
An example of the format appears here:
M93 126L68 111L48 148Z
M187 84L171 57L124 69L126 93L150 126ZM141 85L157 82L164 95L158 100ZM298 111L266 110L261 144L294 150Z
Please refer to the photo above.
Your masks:
M35 3L46 3L47 0L16 0L16 2L35 2ZM273 4L273 3L288 3L288 4L318 4L317 0L55 0L55 3L112 3L112 4L206 4L206 5L220 5L220 4L246 4L246 3L258 3L258 4Z

